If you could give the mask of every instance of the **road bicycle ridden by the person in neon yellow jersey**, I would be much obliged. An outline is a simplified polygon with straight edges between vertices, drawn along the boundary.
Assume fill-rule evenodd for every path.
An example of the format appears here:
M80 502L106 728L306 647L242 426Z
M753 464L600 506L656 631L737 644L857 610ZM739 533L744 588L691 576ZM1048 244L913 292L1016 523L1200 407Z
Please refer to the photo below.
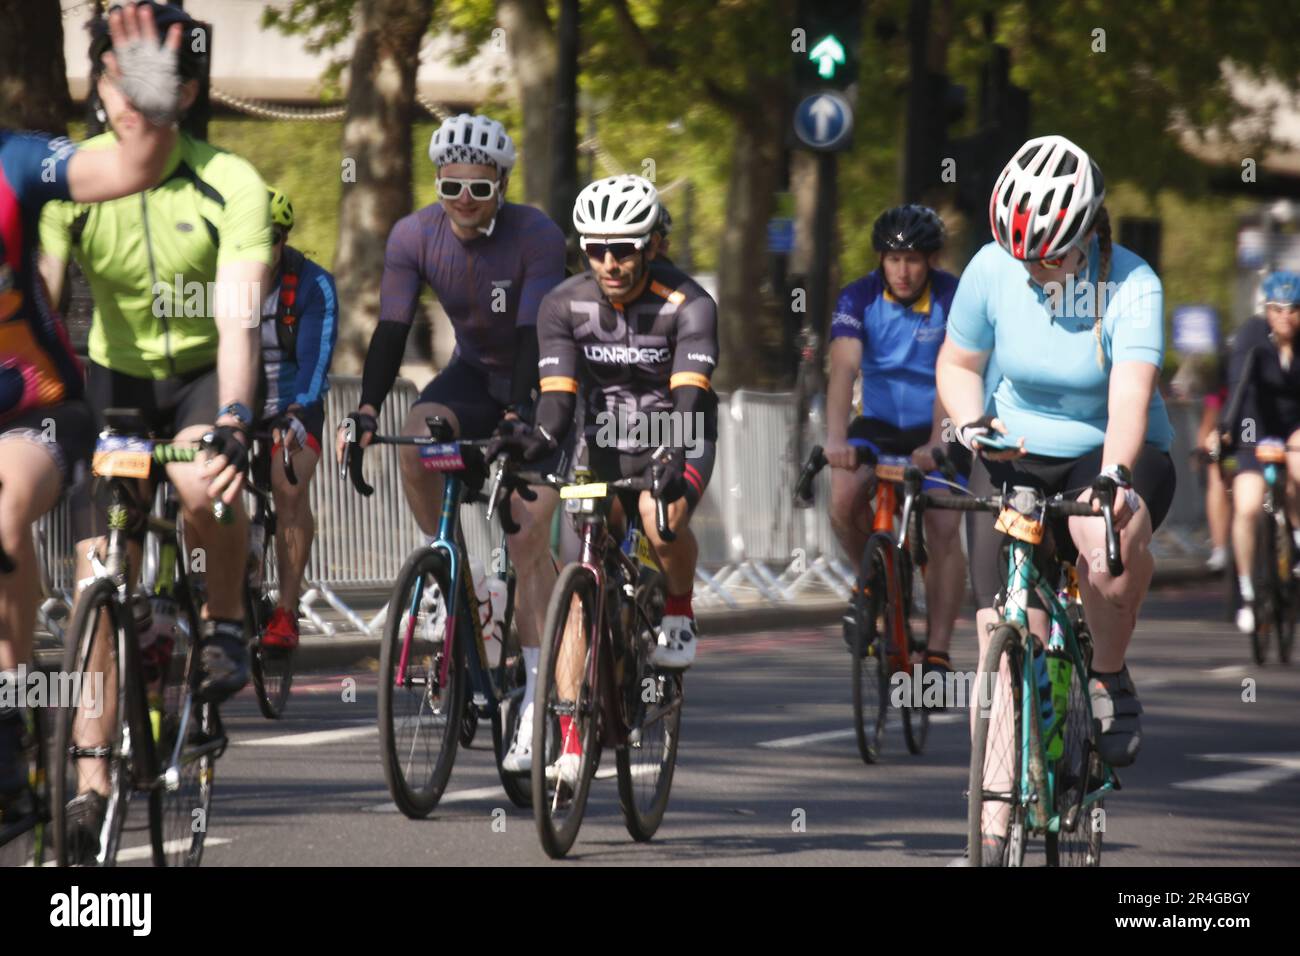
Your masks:
M198 866L211 826L216 762L226 735L217 706L195 698L199 605L188 576L179 522L179 499L164 466L195 460L208 438L195 446L148 437L135 410L104 411L94 475L108 489L105 557L91 554L94 579L73 609L66 631L62 675L75 698L56 711L52 817L61 866L114 865L127 809L148 797L148 832L156 866ZM151 510L139 481L159 483ZM220 522L233 520L221 502ZM142 591L133 593L127 541L147 536ZM176 617L165 632L146 632L152 598L169 601ZM152 627L152 626L150 626ZM86 780L107 786L107 808L98 840L78 842L69 826L68 803Z

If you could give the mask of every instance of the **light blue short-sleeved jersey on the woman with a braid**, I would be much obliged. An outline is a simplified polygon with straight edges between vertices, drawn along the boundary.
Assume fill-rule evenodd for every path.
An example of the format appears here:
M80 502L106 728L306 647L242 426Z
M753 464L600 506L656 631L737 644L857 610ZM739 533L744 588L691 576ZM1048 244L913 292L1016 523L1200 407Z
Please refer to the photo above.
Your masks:
M1024 437L1028 451L1078 458L1105 444L1110 369L1118 362L1165 358L1164 290L1156 272L1136 254L1115 245L1104 290L1097 364L1093 321L1098 268L1097 241L1088 248L1088 281L1070 282L1058 306L1030 281L1024 264L991 242L962 272L948 317L953 343L991 351L997 385L989 411L1009 437ZM1053 317L1056 316L1056 317ZM1148 407L1147 441L1169 450L1174 431L1157 390Z

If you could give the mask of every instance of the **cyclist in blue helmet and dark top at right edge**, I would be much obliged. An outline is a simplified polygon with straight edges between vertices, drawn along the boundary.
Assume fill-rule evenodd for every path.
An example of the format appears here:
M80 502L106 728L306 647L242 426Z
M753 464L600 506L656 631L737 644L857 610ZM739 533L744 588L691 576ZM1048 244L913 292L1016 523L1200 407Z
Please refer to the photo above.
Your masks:
M1232 479L1232 557L1236 559L1242 607L1236 627L1254 631L1254 536L1264 509L1264 475L1254 457L1257 438L1286 438L1300 444L1300 365L1295 362L1300 326L1300 274L1274 272L1265 277L1264 315L1243 323L1228 362L1228 395L1234 407L1219 423L1223 453L1236 462ZM1287 455L1287 518L1300 549L1300 455Z

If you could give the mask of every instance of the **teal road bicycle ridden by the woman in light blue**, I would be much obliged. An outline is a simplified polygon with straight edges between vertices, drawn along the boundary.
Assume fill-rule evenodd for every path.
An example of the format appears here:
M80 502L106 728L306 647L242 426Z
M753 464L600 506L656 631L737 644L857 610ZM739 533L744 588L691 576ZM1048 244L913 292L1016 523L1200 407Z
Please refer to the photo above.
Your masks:
M919 472L910 476L919 486ZM1105 796L1119 777L1097 748L1088 676L1092 635L1083 617L1075 568L1043 549L1057 518L1100 518L1106 525L1106 568L1123 574L1114 529L1115 485L1100 477L1092 502L1069 493L1046 497L1011 488L984 498L920 493L918 510L997 515L1005 548L1005 604L980 662L971 741L967 836L971 866L1020 866L1030 836L1041 835L1049 866L1097 866L1105 834ZM918 533L924 535L918 523ZM1048 640L1030 633L1036 594L1046 610ZM1004 838L1001 860L984 858L985 836Z

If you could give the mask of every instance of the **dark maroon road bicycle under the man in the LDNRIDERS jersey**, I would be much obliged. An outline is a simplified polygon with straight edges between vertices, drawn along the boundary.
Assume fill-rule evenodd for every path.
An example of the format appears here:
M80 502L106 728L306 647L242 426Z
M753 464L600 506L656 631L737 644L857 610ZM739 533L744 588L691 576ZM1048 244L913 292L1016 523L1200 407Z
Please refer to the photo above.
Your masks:
M655 494L660 540L676 536L651 476L558 488L581 538L580 558L560 571L546 609L537 669L532 795L537 835L547 856L563 857L577 839L601 750L612 747L623 821L634 840L654 836L672 790L681 727L682 675L654 666L666 581L640 529L640 492ZM621 499L625 533L610 531ZM568 771L566 770L568 763Z

